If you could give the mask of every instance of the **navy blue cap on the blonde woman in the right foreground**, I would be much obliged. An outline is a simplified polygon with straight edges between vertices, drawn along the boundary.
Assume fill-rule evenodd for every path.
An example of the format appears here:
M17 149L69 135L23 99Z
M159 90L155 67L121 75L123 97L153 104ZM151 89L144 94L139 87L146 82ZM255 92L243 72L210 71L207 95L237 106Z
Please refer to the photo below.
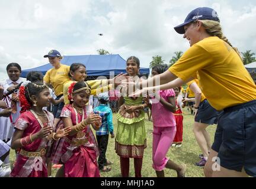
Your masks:
M179 34L185 34L184 26L189 24L190 22L194 22L197 20L202 19L209 19L213 21L220 22L219 16L217 12L209 7L200 7L196 8L187 15L183 24L174 27L174 30L177 31Z

